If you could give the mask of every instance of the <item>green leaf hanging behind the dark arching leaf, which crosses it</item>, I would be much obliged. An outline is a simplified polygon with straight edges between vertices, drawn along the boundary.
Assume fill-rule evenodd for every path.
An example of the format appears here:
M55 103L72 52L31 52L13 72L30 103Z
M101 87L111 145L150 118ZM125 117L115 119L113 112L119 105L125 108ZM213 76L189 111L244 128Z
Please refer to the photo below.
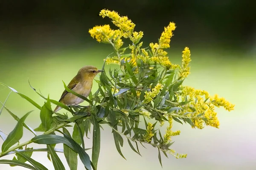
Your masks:
M63 128L63 133L65 133L67 136L70 136L69 131L66 128ZM72 150L70 147L68 147L66 144L63 144L64 149L64 156L67 160L67 164L70 167L70 170L77 170L77 153Z

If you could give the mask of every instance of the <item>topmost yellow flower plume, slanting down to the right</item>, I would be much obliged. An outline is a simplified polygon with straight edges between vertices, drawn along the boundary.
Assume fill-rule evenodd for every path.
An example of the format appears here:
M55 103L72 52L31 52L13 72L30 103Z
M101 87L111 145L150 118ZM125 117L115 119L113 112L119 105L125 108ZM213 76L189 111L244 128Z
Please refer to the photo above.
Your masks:
M114 25L119 27L124 33L123 37L128 38L132 36L135 24L128 19L128 17L120 17L119 14L115 11L102 9L99 13L102 18L109 17L112 19Z

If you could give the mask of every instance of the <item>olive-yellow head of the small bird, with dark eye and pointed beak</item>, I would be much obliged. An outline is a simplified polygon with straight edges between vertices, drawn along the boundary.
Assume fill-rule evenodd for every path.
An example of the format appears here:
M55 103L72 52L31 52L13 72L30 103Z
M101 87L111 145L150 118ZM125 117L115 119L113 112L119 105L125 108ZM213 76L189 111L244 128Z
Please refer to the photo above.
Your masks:
M78 71L78 75L80 75L84 79L91 79L92 80L100 72L103 72L103 71L102 70L98 70L98 68L96 68L94 66L87 65L87 66L82 67Z

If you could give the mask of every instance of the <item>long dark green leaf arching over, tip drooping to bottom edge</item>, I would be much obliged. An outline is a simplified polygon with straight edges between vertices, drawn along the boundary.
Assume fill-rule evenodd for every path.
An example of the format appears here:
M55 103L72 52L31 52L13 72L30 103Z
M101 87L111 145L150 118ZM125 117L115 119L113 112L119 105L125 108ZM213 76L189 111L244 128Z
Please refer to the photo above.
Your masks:
M88 170L91 170L90 157L88 156L88 154L72 138L70 138L66 134L64 134L64 136L65 137L58 136L58 135L39 135L39 136L35 136L33 139L31 139L31 141L37 144L58 144L58 143L67 144L68 147L70 147L71 149L73 149L79 154L79 157L83 162L84 166Z

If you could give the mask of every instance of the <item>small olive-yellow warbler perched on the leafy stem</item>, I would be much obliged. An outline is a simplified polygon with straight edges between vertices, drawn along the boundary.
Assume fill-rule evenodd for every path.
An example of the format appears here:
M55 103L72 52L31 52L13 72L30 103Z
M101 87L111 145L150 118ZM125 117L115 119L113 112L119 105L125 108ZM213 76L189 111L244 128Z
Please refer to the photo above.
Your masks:
M103 72L103 71L98 70L94 66L91 66L91 65L84 66L78 71L76 76L70 81L67 87L72 91L75 91L76 93L81 94L84 97L87 97L90 94L90 91L92 89L94 77L100 72ZM84 102L84 100L65 90L62 93L61 98L59 99L59 102L63 103L64 105L70 106L70 105L78 105L79 103ZM60 109L61 107L57 106L54 109L54 112L57 112Z

